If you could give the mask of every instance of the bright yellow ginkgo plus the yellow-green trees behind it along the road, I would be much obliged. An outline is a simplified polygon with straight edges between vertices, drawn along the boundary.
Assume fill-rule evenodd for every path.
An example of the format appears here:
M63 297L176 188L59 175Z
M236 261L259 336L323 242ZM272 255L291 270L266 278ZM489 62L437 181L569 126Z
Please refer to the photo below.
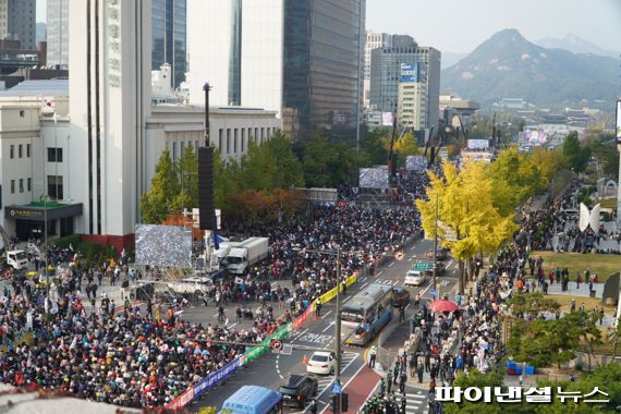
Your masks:
M429 172L427 199L419 199L425 232L436 234L459 260L459 290L473 276L475 257L495 254L518 230L515 211L529 197L548 187L567 168L563 151L537 148L531 154L509 147L489 165L466 162L461 168L445 161L442 174Z

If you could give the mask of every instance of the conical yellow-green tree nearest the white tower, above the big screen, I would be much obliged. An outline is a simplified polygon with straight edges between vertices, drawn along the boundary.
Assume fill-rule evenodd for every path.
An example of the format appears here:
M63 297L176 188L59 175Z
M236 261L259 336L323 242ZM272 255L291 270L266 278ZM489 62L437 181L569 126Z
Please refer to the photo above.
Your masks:
M145 223L159 223L171 210L179 195L179 180L172 166L170 151L165 149L159 157L150 190L141 196L141 215Z

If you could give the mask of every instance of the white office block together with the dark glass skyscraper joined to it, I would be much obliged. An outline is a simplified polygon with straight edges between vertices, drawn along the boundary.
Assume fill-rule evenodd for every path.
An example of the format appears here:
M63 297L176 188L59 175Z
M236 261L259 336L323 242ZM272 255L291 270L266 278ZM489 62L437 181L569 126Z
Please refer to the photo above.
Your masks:
M366 0L188 0L190 100L276 110L293 138L353 136Z

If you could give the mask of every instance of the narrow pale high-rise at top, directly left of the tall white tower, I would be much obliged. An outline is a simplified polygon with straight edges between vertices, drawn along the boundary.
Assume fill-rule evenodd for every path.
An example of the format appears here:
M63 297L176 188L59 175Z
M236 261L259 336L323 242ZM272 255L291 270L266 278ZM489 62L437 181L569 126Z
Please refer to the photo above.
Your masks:
M48 0L47 5L48 54L52 66L69 66L69 0Z

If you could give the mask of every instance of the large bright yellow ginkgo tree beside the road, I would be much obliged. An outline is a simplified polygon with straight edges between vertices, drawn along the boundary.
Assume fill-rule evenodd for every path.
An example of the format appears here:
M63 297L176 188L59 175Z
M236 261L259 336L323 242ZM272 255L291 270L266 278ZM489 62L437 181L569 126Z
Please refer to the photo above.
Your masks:
M460 170L442 165L443 178L433 172L426 190L427 200L419 199L423 229L436 234L436 196L438 200L438 239L459 260L459 291L464 293L464 263L479 254L496 252L518 229L513 214L502 216L492 205L492 181L482 162L466 162ZM453 236L448 238L451 233Z

